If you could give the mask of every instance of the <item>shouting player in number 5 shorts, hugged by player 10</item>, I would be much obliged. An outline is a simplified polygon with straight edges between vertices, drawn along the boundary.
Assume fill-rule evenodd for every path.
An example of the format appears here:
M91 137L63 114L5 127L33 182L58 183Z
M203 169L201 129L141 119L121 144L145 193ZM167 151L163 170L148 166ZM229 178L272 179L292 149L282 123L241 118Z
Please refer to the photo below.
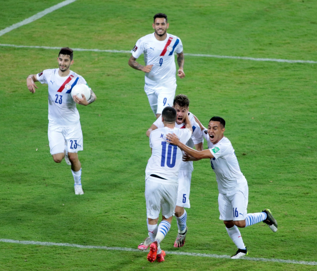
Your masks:
M184 94L178 94L175 96L173 101L173 108L176 109L177 119L175 122L176 128L185 128L184 120L186 115L188 115L191 120L191 125L193 129L193 133L191 138L187 141L186 145L191 148L195 146L197 151L202 151L203 147L203 138L202 132L200 130L199 125L196 123L194 116L189 112L189 99ZM162 120L157 119L152 126L146 131L146 135L150 136L151 132L164 127ZM186 233L187 233L187 212L184 208L191 208L189 201L189 194L191 189L191 172L194 170L192 160L196 160L191 157L189 161L182 161L181 168L178 173L178 195L177 202L175 208L175 217L178 226L178 235L174 242L174 247L179 248L184 246ZM138 248L140 250L146 250L148 246L152 243L151 238L148 236L144 242L139 244Z

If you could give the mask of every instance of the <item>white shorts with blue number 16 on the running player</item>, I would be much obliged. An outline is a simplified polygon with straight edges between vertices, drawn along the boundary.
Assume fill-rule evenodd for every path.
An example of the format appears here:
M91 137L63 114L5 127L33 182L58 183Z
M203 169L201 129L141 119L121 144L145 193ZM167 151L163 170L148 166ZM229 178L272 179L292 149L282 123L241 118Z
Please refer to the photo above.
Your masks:
M218 195L221 220L244 220L247 214L249 188L248 185L228 193Z

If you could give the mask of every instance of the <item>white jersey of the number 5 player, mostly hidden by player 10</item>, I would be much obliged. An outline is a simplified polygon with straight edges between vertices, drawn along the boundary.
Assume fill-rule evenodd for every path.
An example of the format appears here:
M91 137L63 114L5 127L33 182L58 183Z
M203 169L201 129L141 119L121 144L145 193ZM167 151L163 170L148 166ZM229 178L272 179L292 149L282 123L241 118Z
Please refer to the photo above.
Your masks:
M191 138L186 142L186 145L193 148L195 144L203 142L203 137L202 137L202 132L201 129L199 128L199 125L196 123L194 119L194 115L192 113L188 113L189 119L191 121L191 126L193 128L193 133L191 134ZM161 128L164 127L164 123L162 122L162 118L159 117L154 123L156 127ZM185 124L177 124L175 122L175 127L182 129L185 128ZM192 172L194 170L193 167L193 161L182 161L180 171L189 171Z

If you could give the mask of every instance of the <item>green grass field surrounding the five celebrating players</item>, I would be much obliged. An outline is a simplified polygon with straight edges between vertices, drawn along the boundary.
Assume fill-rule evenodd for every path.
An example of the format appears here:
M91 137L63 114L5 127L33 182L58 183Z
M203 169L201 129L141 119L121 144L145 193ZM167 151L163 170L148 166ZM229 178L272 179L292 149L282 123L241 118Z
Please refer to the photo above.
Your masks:
M60 2L6 1L0 31ZM0 270L316 270L316 10L313 0L77 0L1 35ZM74 195L70 167L49 153L47 85L38 82L31 94L26 77L57 68L59 50L35 46L130 51L152 33L158 12L168 15L168 32L187 54L313 61L185 55L176 94L189 96L190 111L204 125L214 115L226 120L225 135L249 184L248 211L270 208L279 224L276 233L264 223L240 230L247 259L221 258L236 246L219 220L207 159L194 163L184 247L173 247L173 221L161 244L165 262L150 263L134 250L147 234L145 133L155 117L144 74L127 64L130 53L74 52L71 69L97 95L77 106L83 196Z

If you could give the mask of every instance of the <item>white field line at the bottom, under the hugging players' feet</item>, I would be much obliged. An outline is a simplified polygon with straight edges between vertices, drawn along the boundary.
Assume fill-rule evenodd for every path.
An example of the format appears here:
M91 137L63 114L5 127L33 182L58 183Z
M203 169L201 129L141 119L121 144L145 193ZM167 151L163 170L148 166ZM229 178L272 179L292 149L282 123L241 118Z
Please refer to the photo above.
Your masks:
M145 251L140 251L139 249L136 249L136 248L120 248L120 247L106 247L106 246L83 246L83 245L68 244L68 243L53 243L53 242L38 242L38 241L19 241L19 240L11 240L11 239L0 239L0 242L23 244L23 245L61 246L61 247L73 247L73 248L86 248L86 249L120 250L120 251L143 252L143 253L145 252ZM230 259L229 255L191 253L191 252L177 252L177 251L166 251L166 250L165 250L165 253L166 254L173 254L173 255ZM269 262L279 262L279 263L317 265L316 261L294 261L294 260L265 259L265 258L252 258L252 257L243 257L241 259L247 260L247 261L269 261Z

